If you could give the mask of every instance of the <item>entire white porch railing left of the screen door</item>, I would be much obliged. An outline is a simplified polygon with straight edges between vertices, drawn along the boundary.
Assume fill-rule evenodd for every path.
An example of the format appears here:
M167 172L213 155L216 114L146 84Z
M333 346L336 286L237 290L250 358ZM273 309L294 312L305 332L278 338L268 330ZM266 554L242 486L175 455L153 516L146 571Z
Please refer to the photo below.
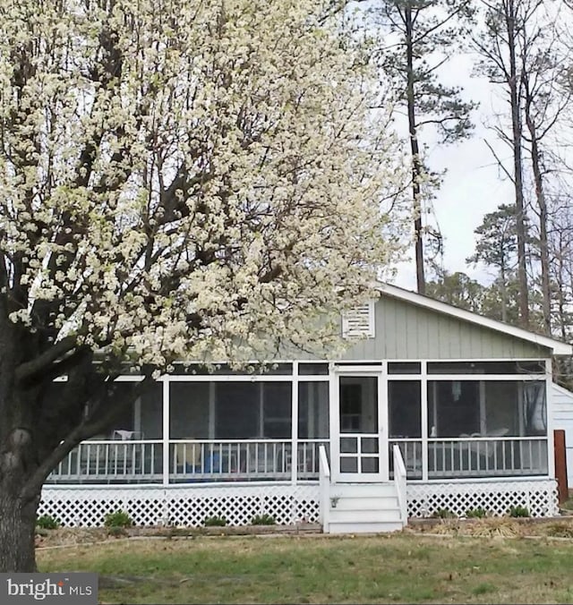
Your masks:
M319 447L324 439L299 439L297 480L318 480ZM162 482L164 443L159 439L90 440L57 465L48 483ZM288 480L293 476L290 440L172 440L168 481Z

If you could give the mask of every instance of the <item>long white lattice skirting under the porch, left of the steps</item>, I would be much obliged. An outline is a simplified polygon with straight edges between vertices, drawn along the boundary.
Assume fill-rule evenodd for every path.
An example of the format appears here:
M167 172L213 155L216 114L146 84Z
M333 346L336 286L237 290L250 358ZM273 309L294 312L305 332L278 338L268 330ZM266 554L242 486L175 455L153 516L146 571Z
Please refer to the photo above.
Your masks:
M253 516L265 514L278 524L316 523L319 508L318 485L50 486L42 492L38 516L53 516L64 526L98 527L107 513L124 510L136 525L196 527L209 516L224 516L229 525L247 525Z

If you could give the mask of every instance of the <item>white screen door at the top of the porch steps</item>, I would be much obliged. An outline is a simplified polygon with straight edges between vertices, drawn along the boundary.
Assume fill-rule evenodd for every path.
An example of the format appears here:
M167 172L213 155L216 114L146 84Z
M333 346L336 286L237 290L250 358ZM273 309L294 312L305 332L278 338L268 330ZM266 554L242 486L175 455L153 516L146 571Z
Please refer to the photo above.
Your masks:
M387 406L379 371L335 375L335 481L388 481Z

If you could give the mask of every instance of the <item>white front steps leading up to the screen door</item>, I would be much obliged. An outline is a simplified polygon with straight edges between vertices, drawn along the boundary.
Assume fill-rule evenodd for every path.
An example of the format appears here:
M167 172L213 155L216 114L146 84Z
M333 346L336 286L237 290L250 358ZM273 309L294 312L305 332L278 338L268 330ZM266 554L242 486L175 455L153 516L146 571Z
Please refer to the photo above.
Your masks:
M330 485L329 533L396 532L400 520L394 483Z

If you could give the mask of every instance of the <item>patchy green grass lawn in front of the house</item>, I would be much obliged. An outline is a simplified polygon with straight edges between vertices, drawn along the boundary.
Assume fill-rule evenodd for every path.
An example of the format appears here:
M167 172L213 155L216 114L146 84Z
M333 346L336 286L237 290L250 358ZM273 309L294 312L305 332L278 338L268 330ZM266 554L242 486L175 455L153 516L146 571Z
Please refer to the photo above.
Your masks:
M573 541L395 534L117 541L38 552L40 571L132 581L105 603L571 603Z

